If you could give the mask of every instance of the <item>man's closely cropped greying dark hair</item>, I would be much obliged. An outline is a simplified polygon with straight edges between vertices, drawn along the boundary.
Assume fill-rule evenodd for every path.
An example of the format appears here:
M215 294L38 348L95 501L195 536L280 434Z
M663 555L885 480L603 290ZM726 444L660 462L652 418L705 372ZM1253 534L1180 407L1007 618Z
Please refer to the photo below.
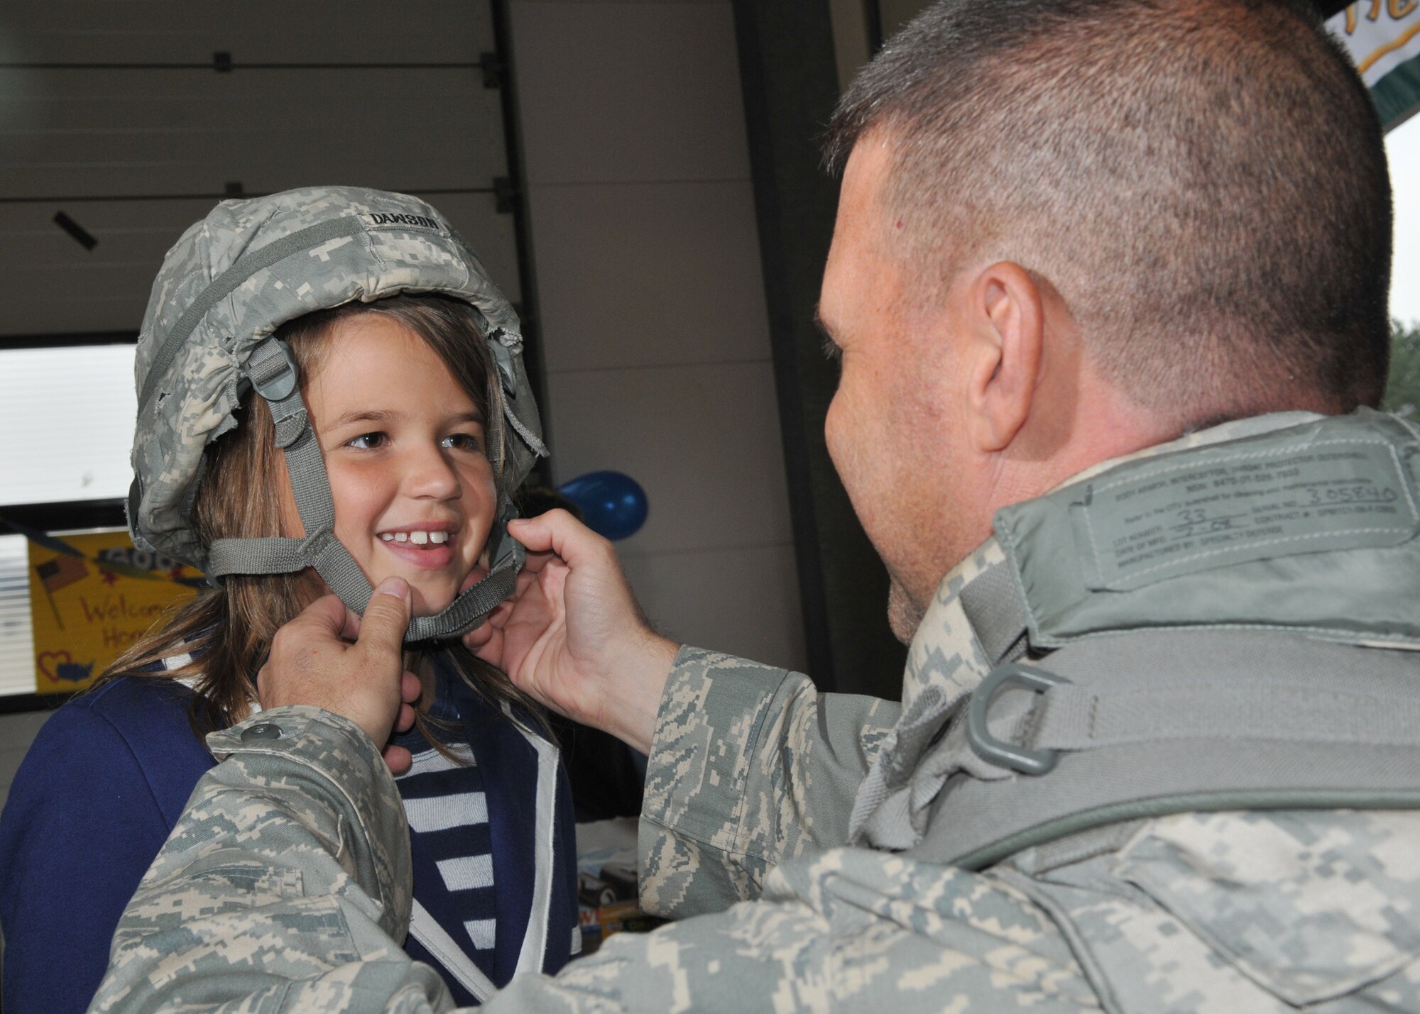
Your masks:
M943 0L843 95L829 163L879 131L919 291L1015 260L1109 379L1184 423L1380 399L1382 131L1299 4Z

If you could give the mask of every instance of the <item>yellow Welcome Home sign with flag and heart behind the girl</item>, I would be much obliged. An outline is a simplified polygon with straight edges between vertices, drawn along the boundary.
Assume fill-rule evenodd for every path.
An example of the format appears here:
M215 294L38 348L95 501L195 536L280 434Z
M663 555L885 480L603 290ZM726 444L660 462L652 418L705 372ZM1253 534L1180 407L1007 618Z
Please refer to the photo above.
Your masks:
M28 561L37 693L87 687L170 605L192 598L192 582L202 577L175 560L133 548L125 531L45 543L30 543Z

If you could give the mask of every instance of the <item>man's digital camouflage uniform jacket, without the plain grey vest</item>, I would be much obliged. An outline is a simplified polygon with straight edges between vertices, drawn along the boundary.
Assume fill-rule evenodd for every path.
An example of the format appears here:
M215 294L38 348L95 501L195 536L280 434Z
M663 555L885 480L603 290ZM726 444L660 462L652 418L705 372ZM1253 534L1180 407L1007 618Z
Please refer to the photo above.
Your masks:
M520 977L488 1005L1420 1010L1420 814L1176 814L980 872L872 846L889 834L879 812L916 824L941 784L932 768L949 720L916 719L927 697L968 697L993 665L961 599L1001 558L988 540L943 581L900 707L682 649L642 819L643 902L680 922L621 934L557 977ZM125 912L95 1008L446 1010L435 973L396 944L408 846L373 746L314 709L260 720L281 737L210 737L226 761Z

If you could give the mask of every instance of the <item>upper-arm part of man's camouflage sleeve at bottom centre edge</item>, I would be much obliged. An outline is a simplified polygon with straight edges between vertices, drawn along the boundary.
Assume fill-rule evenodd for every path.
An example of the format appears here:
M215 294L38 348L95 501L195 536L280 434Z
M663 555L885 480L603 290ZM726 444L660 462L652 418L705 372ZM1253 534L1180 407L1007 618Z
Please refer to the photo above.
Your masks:
M555 978L514 978L484 1005L667 1010L1081 1014L1100 1004L1049 916L1008 883L835 849L778 868L763 902L618 933Z

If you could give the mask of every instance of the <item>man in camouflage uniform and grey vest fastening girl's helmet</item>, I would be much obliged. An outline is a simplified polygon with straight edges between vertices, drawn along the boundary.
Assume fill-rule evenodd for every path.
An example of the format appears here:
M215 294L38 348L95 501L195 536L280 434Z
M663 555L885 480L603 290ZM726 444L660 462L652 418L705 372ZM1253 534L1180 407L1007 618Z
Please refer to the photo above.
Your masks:
M515 524L473 639L649 750L643 902L707 915L490 1005L1420 1010L1420 435L1359 408L1390 209L1353 71L1277 1L946 0L829 149L826 432L903 703L677 649L605 543ZM266 731L209 740L101 1010L447 1004L390 940L383 591L355 643L334 599L290 625Z

